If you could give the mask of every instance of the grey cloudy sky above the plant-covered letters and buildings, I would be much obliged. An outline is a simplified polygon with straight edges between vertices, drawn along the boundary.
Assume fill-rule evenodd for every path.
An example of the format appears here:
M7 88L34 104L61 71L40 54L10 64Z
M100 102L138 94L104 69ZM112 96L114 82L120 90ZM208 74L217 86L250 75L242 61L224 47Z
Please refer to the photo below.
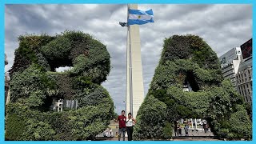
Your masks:
M111 71L102 85L110 92L118 114L126 98L126 5L6 5L5 53L10 70L21 34L60 34L82 30L107 46ZM197 34L218 54L252 38L251 5L138 5L154 11L154 23L140 26L145 95L160 58L164 38Z

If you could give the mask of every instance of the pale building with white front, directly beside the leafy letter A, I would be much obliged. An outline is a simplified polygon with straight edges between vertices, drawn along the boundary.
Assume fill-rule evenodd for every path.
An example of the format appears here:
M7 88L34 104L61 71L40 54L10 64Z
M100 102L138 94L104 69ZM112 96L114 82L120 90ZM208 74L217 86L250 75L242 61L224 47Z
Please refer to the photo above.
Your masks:
M218 58L221 62L222 74L224 78L229 78L234 88L237 89L236 77L240 62L242 61L242 52L240 47L234 47L221 57Z

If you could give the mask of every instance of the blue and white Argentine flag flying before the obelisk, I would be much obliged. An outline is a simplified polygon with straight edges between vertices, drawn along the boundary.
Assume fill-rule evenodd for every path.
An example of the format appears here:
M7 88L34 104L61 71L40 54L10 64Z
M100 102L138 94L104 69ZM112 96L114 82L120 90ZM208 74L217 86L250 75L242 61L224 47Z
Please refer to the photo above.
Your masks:
M153 10L131 10L129 9L128 26L130 25L143 25L147 22L154 22Z

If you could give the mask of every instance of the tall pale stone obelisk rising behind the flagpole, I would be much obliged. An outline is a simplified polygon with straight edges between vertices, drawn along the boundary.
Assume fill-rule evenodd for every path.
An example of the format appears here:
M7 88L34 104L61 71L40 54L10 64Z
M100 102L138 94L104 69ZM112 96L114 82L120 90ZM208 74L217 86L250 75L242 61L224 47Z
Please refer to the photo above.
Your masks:
M138 10L137 4L128 5L130 9ZM126 114L131 112L135 118L144 100L142 77L142 56L139 26L128 26L126 54Z

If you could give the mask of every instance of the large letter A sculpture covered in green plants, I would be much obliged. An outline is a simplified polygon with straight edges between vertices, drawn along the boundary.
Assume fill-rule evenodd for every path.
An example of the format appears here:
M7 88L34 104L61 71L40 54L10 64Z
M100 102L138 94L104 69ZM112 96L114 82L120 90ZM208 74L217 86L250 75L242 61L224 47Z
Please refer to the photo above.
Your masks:
M183 91L188 84L192 91ZM219 138L251 138L244 106L242 96L223 80L210 46L198 36L174 35L164 41L150 90L138 110L134 139L170 138L178 118L205 118Z

